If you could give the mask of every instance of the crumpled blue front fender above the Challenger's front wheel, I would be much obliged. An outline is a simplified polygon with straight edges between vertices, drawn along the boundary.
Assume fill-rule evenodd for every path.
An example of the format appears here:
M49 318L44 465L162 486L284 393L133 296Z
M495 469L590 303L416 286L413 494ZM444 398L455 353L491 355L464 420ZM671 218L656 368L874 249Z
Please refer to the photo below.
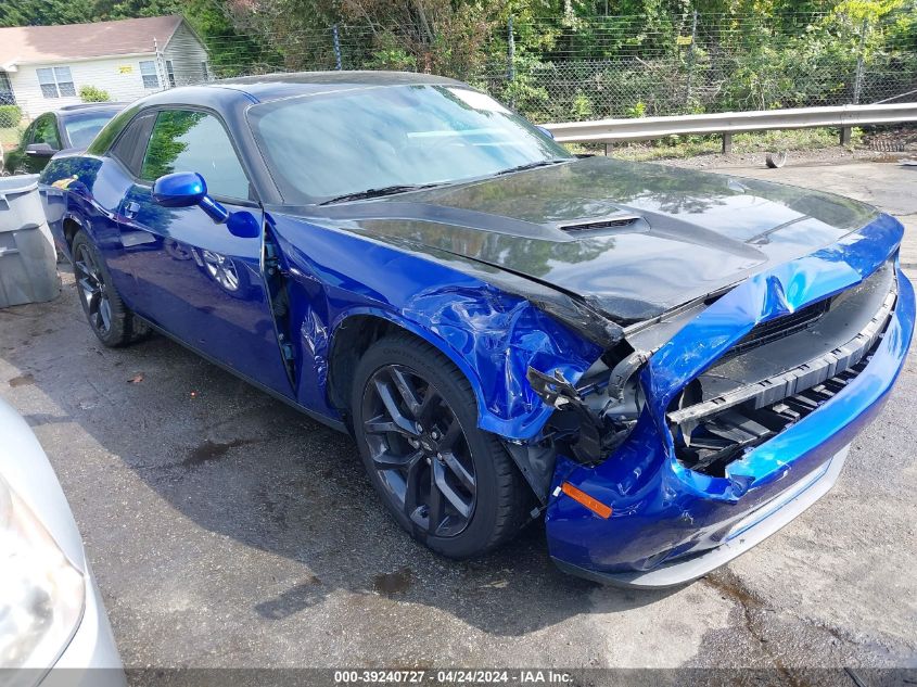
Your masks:
M525 381L530 366L577 380L602 353L527 300L429 255L300 218L272 226L292 278L292 320L302 322L297 400L315 412L337 412L328 358L353 317L391 321L443 351L471 382L479 425L509 440L535 436L552 412Z

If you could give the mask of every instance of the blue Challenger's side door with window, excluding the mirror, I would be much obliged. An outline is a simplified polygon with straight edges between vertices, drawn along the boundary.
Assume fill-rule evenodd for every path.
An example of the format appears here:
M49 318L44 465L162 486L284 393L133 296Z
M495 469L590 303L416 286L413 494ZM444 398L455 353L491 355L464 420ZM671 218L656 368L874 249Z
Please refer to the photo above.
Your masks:
M169 334L275 392L292 396L262 277L263 212L222 122L212 112L154 113L138 179L119 208L136 283L133 308ZM196 171L232 214L216 224L198 206L163 207L152 183ZM241 237L229 227L245 225Z

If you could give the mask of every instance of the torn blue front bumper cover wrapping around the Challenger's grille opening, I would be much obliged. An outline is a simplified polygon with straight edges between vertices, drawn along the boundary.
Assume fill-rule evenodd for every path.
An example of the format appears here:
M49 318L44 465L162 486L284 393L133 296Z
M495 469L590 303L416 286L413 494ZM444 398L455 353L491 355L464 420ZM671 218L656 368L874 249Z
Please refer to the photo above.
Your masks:
M817 410L711 476L675 457L665 419L676 395L755 325L792 313L868 277L897 250L902 227L884 215L841 243L759 273L686 325L641 373L647 404L627 441L601 465L558 459L566 481L612 507L608 520L556 496L547 511L551 556L574 570L633 576L724 544L737 522L813 474L881 408L914 329L914 291L896 269L897 300L864 370ZM676 581L677 574L667 581Z

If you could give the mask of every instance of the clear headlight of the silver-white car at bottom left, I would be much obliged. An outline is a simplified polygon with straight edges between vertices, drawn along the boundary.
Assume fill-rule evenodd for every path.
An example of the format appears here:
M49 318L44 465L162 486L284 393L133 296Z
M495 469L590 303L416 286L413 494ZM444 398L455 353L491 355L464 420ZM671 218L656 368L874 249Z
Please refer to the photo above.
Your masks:
M0 478L0 669L53 665L85 601L82 572Z

